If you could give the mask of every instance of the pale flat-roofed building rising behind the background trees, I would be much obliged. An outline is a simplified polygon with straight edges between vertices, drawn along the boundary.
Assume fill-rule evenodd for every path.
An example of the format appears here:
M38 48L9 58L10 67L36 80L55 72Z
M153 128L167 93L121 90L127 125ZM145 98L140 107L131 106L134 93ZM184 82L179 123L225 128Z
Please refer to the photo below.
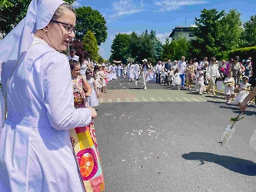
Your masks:
M171 41L177 40L179 37L186 38L187 41L194 39L194 33L191 30L191 27L175 27L172 29L169 38Z

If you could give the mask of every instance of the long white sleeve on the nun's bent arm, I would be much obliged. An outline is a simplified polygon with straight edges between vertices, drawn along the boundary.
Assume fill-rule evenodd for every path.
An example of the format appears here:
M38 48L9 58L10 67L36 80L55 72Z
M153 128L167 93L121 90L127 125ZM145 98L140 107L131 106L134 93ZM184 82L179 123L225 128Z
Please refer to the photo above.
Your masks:
M68 130L89 124L91 111L88 108L74 108L71 72L65 55L50 55L44 68L44 101L52 127Z

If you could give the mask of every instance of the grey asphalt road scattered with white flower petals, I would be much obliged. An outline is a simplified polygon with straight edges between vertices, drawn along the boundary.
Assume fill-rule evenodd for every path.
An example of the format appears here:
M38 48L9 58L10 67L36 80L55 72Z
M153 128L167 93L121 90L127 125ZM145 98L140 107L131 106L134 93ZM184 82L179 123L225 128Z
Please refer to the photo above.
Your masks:
M254 107L220 146L229 119L240 112L236 106L159 84L148 84L147 90L134 86L111 81L97 108L106 192L256 191L256 154L248 146L256 127Z

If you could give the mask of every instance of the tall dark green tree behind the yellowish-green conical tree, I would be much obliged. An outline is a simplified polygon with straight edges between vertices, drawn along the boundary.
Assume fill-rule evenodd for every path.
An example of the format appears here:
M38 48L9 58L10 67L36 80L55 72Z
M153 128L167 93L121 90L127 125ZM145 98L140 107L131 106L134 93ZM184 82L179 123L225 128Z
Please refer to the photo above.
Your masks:
M76 38L81 39L88 30L95 34L98 45L105 42L108 37L106 21L103 15L97 10L93 10L91 7L82 6L76 8L77 24L75 26L78 31Z

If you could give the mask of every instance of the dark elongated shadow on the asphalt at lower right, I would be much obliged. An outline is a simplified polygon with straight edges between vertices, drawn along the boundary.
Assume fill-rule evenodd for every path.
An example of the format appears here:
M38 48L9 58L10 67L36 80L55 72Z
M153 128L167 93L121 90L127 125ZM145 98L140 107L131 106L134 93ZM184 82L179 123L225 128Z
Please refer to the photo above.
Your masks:
M185 160L201 161L200 165L203 165L208 161L214 164L219 164L222 167L238 174L256 176L256 164L253 161L205 152L191 152L189 154L182 154L182 157Z

